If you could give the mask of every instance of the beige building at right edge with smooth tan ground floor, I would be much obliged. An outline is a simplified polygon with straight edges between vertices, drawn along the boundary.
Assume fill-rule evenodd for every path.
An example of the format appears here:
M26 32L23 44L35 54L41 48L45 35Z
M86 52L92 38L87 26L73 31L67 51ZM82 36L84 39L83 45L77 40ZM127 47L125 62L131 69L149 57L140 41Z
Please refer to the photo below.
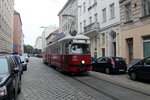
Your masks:
M150 0L120 0L122 57L128 64L150 56Z

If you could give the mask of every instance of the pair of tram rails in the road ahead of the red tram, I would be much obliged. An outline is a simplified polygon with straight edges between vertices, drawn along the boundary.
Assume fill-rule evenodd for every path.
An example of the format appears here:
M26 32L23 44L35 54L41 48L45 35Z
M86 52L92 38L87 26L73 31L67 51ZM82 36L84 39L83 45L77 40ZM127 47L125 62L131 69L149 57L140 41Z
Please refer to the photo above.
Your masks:
M97 78L97 77L94 77L94 76L91 76L91 75L87 75L87 76L90 77L90 78L93 78L93 79L97 79L97 80L100 80L100 81L103 81L103 82L107 82L109 84L115 85L115 86L120 87L120 88L127 89L127 90L135 92L137 94L142 94L142 95L150 97L150 94L148 94L148 93L144 93L142 91L138 91L138 90L135 90L135 89L132 89L132 88L129 88L129 87L125 87L125 86L119 85L117 83L113 83L113 82L110 82L110 81L107 81L107 80L104 80L104 79L100 79L100 78ZM87 87L97 91L98 93L101 93L101 94L105 95L106 97L108 97L108 98L110 98L112 100L120 100L120 98L114 96L113 94L108 93L105 90L101 90L101 89L99 89L99 88L89 84L87 81L83 81L82 79L80 79L80 77L73 77L73 76L71 76L71 78L73 78L74 80L76 80L76 81L86 85Z

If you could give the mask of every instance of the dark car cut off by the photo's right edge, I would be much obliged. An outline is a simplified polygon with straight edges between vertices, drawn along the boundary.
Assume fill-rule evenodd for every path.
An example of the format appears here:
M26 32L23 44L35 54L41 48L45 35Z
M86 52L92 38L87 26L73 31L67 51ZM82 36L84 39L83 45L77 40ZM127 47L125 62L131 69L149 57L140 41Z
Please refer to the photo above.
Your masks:
M128 69L130 79L150 79L150 57L140 60Z

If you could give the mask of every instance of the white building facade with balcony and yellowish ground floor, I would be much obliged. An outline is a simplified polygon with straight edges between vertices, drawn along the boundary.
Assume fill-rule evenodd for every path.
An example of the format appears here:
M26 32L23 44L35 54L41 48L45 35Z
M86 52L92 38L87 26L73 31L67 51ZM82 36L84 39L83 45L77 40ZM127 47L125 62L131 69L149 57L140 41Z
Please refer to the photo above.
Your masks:
M90 37L91 56L121 56L119 0L78 0L78 29Z

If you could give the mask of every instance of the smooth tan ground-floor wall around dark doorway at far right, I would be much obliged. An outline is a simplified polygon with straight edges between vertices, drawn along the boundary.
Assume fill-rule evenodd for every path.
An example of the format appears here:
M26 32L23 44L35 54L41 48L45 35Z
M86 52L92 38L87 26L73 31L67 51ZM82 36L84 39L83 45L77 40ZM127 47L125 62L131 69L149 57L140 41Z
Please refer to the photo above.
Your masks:
M150 35L150 24L125 30L121 32L122 34L122 57L127 58L128 63L128 45L126 39L133 38L133 58L141 59L143 58L143 36Z

